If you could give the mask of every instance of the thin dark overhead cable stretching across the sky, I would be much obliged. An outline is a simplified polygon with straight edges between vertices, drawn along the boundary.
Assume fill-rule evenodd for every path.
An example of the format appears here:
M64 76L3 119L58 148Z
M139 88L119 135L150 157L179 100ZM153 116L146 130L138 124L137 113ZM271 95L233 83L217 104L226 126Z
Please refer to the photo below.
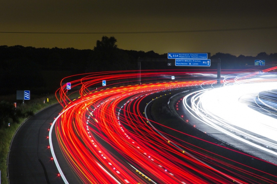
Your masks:
M189 33L189 32L223 32L223 31L246 31L260 29L277 29L273 27L253 27L253 28L235 28L235 29L203 29L203 30L185 30L185 31L134 31L134 32L4 32L0 33L22 33L22 34L156 34L156 33Z

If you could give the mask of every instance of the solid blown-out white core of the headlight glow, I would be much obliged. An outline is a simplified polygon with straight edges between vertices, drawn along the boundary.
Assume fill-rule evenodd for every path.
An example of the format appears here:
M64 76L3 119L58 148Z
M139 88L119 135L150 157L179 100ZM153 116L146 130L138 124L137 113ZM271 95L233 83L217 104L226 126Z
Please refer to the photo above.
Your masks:
M246 94L255 94L264 90L272 90L277 83L240 84L210 90L201 96L201 105L206 112L212 113L231 124L253 133L277 140L276 119L258 113L239 99Z

